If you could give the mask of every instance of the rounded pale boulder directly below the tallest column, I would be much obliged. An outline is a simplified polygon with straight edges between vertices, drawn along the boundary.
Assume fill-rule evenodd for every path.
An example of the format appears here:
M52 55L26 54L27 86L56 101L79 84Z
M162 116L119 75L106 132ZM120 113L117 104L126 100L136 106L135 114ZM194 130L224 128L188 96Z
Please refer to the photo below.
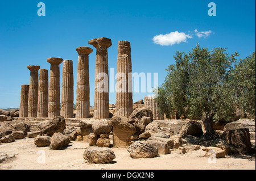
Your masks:
M112 131L112 125L110 120L97 120L92 124L93 133L101 135L104 133L110 133Z

